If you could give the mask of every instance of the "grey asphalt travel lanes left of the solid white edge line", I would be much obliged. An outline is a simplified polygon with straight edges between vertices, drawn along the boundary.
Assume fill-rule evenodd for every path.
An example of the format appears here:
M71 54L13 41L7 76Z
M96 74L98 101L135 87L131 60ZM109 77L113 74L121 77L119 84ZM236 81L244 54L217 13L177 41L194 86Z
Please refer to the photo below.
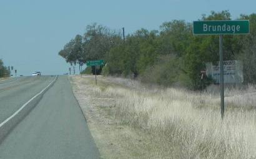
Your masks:
M0 123L46 87L55 76L19 77L0 84Z

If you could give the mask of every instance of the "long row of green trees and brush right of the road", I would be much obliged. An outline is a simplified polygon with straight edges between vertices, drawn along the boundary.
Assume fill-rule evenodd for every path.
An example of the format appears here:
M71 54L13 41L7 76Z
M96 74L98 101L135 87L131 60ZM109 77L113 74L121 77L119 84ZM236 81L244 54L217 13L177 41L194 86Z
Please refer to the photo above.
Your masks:
M250 34L224 36L224 60L241 60L244 82L256 82L256 14L241 14L237 19L250 20ZM200 21L231 20L229 11L210 12ZM219 61L219 36L194 36L192 23L182 20L164 22L159 30L139 29L122 40L121 30L92 24L84 35L71 39L59 55L71 65L87 60L104 59L98 69L104 75L134 77L142 82L202 87L200 70L205 62ZM204 80L204 85L213 82Z

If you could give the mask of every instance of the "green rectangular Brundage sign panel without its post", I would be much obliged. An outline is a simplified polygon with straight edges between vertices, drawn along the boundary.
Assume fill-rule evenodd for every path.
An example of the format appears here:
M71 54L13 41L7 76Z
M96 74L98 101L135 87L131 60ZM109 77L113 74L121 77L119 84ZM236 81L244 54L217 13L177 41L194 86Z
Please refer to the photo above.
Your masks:
M241 21L194 21L193 33L197 34L249 34L248 20Z

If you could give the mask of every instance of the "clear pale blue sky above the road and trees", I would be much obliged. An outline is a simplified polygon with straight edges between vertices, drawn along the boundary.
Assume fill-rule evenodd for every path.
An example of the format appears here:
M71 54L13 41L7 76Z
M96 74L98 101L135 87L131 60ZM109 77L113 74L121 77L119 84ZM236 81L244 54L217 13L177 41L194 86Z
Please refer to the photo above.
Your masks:
M255 13L255 6L255 0L0 0L0 59L17 75L64 74L70 65L58 52L94 22L125 27L127 35L174 19L196 21L210 11L229 10L236 19Z

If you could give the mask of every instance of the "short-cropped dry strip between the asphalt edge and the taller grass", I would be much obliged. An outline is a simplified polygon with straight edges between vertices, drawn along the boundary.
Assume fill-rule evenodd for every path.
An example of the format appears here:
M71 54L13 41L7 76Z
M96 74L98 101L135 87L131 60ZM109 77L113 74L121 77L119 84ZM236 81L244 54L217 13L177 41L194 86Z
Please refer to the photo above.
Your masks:
M96 86L94 76L72 76L69 79L101 158L159 158L159 155L150 157L154 144L144 132L115 120L112 108L116 99L95 94L97 89L104 89L108 81L98 77Z

